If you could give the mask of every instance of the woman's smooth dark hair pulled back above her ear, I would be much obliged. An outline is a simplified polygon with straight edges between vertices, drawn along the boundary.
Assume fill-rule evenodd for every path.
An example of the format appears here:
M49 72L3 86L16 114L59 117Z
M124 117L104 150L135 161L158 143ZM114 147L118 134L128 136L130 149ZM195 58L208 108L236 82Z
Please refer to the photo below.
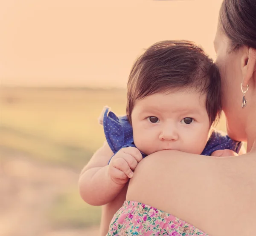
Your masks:
M256 48L256 0L224 0L219 25L231 40L231 50Z

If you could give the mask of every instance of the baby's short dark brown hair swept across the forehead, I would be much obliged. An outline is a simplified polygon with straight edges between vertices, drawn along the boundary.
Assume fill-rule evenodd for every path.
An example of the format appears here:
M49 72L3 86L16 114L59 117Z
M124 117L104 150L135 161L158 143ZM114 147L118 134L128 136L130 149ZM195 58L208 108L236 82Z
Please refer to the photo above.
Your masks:
M150 46L136 60L129 75L126 107L129 122L137 100L184 88L207 95L206 109L212 125L221 115L221 77L212 59L187 40L166 40Z

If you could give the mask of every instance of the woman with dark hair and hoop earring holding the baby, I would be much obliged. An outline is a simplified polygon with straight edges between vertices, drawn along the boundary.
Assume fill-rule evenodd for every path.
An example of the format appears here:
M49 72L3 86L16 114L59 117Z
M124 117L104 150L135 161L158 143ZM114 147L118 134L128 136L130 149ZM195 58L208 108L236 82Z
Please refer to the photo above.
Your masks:
M149 155L138 164L128 186L129 202L113 217L109 235L118 227L125 231L116 235L136 234L134 219L153 228L155 214L158 222L167 216L174 219L172 225L164 225L179 227L169 231L171 235L256 235L255 0L223 1L214 45L227 133L247 142L247 154L214 158L166 150ZM223 156L221 151L217 156ZM141 219L129 209L138 209ZM125 217L132 224L125 225Z

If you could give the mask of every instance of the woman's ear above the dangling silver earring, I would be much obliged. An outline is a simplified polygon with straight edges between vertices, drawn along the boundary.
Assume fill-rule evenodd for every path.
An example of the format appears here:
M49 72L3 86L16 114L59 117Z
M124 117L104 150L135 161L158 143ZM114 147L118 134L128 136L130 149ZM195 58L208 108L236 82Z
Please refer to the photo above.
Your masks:
M253 77L253 73L256 71L256 49L247 48L246 52L241 59L241 69L243 75L242 86L247 88L249 80Z

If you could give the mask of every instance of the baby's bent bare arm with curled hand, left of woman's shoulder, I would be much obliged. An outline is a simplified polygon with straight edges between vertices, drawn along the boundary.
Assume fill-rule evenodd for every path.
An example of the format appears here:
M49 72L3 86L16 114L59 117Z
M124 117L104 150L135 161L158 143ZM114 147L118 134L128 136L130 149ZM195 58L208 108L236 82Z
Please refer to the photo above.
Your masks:
M90 205L105 205L113 201L124 188L133 170L142 159L137 148L122 148L113 156L107 143L92 156L81 171L79 191ZM108 161L111 159L110 165Z

